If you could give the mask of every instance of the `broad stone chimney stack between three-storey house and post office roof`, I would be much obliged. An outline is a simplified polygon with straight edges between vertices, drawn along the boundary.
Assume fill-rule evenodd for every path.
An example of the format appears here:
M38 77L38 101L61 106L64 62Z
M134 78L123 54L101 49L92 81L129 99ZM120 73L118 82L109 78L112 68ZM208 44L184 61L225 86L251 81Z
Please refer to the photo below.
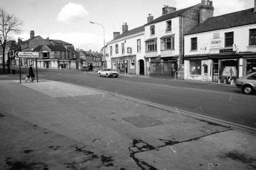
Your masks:
M212 0L202 0L200 6L199 23L201 24L208 18L212 18L213 14L214 7L212 6Z

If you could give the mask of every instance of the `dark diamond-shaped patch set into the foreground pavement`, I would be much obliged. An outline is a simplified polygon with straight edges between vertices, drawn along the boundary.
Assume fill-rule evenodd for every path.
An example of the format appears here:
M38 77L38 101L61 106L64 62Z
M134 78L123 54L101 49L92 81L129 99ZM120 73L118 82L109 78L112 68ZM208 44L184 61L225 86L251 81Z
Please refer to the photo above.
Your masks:
M134 116L130 118L124 118L123 119L126 122L129 122L130 124L133 124L137 127L148 127L148 126L157 126L162 124L160 120L155 120L154 118L150 118L147 116Z

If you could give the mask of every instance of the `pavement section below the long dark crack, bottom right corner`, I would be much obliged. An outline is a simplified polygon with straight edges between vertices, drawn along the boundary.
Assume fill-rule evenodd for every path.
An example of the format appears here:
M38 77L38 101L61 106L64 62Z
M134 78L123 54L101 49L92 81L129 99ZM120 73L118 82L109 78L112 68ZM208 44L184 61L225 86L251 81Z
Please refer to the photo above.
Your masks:
M144 168L156 169L255 169L255 137L227 131L169 146L137 152Z

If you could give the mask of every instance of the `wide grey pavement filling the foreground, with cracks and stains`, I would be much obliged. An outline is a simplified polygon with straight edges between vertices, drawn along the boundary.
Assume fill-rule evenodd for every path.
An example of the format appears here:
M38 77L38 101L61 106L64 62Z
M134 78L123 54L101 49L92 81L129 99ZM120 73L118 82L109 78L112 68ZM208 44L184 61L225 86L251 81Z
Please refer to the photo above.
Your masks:
M256 169L253 133L86 86L4 76L14 75L0 75L0 169Z

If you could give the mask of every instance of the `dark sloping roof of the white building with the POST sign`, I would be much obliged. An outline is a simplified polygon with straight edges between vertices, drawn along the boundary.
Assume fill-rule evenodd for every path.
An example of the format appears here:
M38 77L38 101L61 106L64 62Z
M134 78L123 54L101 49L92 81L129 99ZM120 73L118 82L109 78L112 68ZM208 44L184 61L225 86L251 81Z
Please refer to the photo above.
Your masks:
M238 27L246 24L255 24L256 13L254 13L253 11L254 8L250 8L248 10L242 10L239 12L233 12L222 16L208 18L208 20L205 20L205 22L199 24L198 27L195 27L188 31L186 35L202 33L206 31L214 31L218 29Z

